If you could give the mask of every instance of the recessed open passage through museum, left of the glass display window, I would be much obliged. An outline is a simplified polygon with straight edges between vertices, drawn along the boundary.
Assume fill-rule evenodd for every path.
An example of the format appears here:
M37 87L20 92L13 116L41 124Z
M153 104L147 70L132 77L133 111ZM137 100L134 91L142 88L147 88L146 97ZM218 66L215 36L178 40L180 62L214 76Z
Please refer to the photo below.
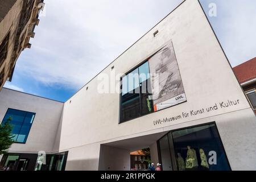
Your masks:
M159 163L157 141L165 134L167 132L101 144L98 169L100 171L130 171L147 169L148 163L156 165ZM147 148L150 151L148 155L141 155L137 152Z

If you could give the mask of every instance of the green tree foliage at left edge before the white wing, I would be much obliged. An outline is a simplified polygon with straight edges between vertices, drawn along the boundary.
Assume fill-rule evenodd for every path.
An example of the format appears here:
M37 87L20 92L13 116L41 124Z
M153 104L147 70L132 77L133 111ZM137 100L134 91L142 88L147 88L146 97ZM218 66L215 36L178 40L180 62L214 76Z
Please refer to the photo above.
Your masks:
M6 154L11 144L14 143L13 134L11 134L13 130L13 126L10 124L11 120L12 118L9 117L6 123L0 125L0 155Z

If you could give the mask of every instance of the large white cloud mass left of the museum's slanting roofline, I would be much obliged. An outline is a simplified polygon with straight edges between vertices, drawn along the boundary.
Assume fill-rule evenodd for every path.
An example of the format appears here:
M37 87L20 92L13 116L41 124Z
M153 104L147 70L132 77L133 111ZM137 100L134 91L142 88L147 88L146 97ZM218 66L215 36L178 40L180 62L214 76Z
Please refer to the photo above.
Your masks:
M44 84L80 88L182 0L45 0L32 48L16 72Z

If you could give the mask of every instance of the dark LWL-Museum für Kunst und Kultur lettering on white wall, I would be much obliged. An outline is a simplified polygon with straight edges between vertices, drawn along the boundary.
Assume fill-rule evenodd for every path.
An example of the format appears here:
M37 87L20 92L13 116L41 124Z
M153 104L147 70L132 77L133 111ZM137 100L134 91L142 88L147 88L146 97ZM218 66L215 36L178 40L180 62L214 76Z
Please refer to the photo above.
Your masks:
M236 105L240 105L240 100L221 101L221 102L215 103L214 105L209 106L209 107L205 107L205 108L201 108L201 109L191 109L189 111L183 111L183 112L181 112L181 114L173 115L172 117L155 119L153 121L153 124L155 126L155 125L160 125L160 124L168 123L168 122L176 122L176 121L179 121L180 119L191 118L191 117L195 117L197 115L210 113L210 112L216 111L216 110L226 109L228 107L233 107Z

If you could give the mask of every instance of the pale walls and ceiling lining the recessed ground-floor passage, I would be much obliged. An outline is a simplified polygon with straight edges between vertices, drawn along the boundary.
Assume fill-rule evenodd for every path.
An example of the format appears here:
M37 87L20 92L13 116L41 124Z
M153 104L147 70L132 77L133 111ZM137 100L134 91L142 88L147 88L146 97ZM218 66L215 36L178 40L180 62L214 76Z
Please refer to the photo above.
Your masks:
M101 171L130 170L130 152L148 147L150 148L151 162L158 163L158 148L156 142L165 134L167 134L167 132L101 144L98 169Z

